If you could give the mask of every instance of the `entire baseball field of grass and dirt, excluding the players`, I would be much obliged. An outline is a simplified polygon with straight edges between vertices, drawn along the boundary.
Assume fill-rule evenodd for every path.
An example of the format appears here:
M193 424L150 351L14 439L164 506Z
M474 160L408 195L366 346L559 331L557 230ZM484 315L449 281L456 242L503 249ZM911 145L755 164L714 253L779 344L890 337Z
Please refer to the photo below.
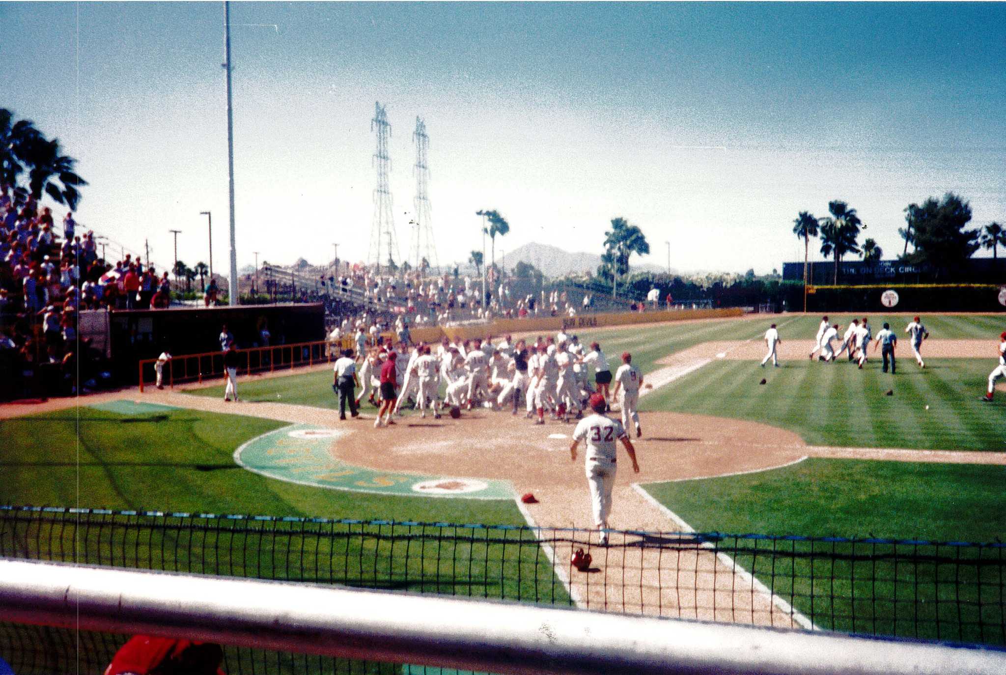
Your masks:
M830 317L843 329L852 318ZM903 550L905 542L916 549L992 543L1006 531L1006 396L979 401L1004 320L923 317L931 335L923 369L902 333L910 317L869 319L874 334L889 322L904 338L894 374L881 372L872 348L862 369L844 355L834 363L809 359L818 316L580 333L614 363L631 352L652 384L641 400L643 437L634 440L641 472L620 470L612 516L620 535L607 547L588 529L581 460L568 455L571 425L536 427L523 415L476 409L457 420L405 411L395 427L374 429L367 405L363 419L339 421L328 366L243 378L240 402L224 402L222 386L209 383L2 408L0 504L436 523L438 534L406 556L399 575L422 579L433 561L438 580L464 577L481 584L470 593L490 597L528 600L530 581L532 601L547 586L558 590L546 602L589 608L1006 643L996 628L1004 625L1001 566L987 570L981 557L998 556L1001 565L1001 547L979 547L977 563L950 572L938 546L927 552L937 560L932 570L915 559L895 562L889 576L877 571L877 559L890 556L876 551ZM780 367L763 368L771 322L782 338ZM526 493L534 501L522 503ZM484 570L474 576L472 542L459 557L457 535L444 534L445 524L465 523L504 526L486 530ZM526 525L548 534L538 531L537 543L534 530L527 540L520 535L517 576L505 565L490 571L491 557L507 555L510 534L500 533ZM691 531L756 533L773 550L785 540L790 574L783 579L775 564L765 567L771 556L761 539L735 538L724 556L723 539L681 538ZM397 539L390 541L374 544L373 555L393 558L383 548ZM817 557L828 545L831 555ZM578 546L594 554L593 571L567 564ZM857 564L870 546L872 566ZM275 556L267 549L257 554ZM369 549L357 542L340 550L362 559ZM964 550L954 551L959 560L971 554ZM464 555L469 569L459 570ZM443 568L448 559L451 570ZM735 589L748 572L753 581ZM960 602L960 585L941 587L946 573L974 576L976 622L960 605L956 618L941 614L946 594ZM988 573L1000 576L993 583ZM830 579L826 599L822 578ZM935 581L932 595L918 590L924 579ZM866 595L860 584L871 586L874 605L893 594L893 609L857 605L857 594ZM911 625L898 605L907 602L904 587L915 589Z

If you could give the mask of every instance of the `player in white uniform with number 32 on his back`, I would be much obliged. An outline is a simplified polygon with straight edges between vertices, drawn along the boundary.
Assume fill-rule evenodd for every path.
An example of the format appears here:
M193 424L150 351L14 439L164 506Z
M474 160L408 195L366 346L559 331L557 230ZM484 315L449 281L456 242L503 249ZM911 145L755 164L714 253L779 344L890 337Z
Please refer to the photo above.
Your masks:
M590 400L594 414L583 417L572 433L569 455L576 461L576 448L586 441L586 483L591 488L594 524L601 530L601 544L608 544L608 516L612 512L612 491L615 489L616 442L621 441L632 460L632 470L639 473L636 449L617 420L604 415L605 397L595 393Z

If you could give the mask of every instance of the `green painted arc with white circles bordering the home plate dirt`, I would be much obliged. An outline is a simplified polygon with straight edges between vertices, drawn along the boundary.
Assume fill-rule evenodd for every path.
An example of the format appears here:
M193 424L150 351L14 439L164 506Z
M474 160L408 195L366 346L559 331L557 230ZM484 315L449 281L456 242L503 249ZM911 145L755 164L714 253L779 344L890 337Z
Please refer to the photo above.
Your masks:
M234 451L234 462L257 474L300 485L386 495L513 499L505 481L383 472L332 457L344 432L292 425L252 439Z

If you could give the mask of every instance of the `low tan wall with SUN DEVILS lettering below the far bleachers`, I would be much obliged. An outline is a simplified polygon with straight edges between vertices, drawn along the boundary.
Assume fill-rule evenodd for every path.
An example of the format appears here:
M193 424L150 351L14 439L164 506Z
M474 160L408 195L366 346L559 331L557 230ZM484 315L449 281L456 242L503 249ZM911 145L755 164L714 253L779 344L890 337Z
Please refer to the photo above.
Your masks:
M449 326L442 328L413 328L409 330L412 340L417 342L439 342L445 335L454 340L499 337L511 333L547 332L559 330L577 331L605 326L629 326L634 324L661 323L665 321L686 321L690 319L725 319L743 315L740 308L719 310L671 310L659 312L619 312L613 314L591 314L575 317L532 317L528 319L497 319L489 324L475 326ZM389 337L388 336L385 337Z

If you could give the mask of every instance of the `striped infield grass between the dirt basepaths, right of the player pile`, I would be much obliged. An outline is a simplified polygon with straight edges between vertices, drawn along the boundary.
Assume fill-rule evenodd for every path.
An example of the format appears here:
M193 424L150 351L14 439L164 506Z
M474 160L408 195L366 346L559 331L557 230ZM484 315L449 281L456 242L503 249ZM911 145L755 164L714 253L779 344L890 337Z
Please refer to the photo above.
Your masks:
M876 360L859 370L843 359L780 368L723 359L649 394L640 407L764 423L811 445L1003 452L1002 403L979 400L990 361L931 359L919 370L902 359L890 375Z

